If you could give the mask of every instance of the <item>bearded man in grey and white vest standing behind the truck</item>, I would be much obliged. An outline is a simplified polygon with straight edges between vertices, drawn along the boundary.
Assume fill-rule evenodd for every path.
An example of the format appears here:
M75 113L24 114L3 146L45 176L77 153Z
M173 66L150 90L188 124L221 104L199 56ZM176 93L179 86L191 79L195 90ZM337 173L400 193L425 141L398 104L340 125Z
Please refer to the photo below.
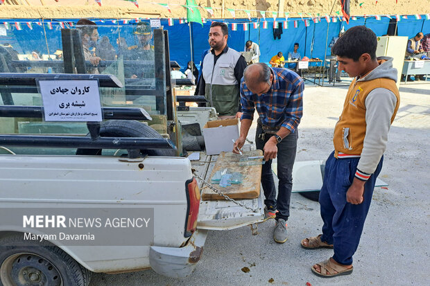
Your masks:
M213 22L209 30L209 46L200 66L196 96L205 96L220 118L241 116L239 84L246 67L243 55L227 46L228 28Z

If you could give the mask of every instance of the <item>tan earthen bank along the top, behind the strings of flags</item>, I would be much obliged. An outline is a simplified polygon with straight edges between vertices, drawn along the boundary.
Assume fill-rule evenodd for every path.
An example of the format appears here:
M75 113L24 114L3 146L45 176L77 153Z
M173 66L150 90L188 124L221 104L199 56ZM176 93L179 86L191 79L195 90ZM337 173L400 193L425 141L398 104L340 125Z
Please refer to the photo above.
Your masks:
M100 7L94 0L15 0L23 5L10 5L14 1L6 0L0 6L0 18L135 18L135 17L187 17L186 8L181 5L185 0L138 0L139 8L131 1L103 0ZM29 3L28 6L26 3ZM251 10L251 17L261 17L258 11L266 11L266 17L273 17L272 12L281 11L278 17L284 17L284 11L289 17L298 17L298 13L320 13L322 16L332 10L341 10L338 0L196 0L198 6L212 7L212 18L232 18L227 8L235 9L236 18L246 18L246 12ZM157 3L169 3L171 12ZM360 7L359 3L363 3ZM379 1L350 1L351 15L414 15L430 12L430 0L379 0ZM211 18L209 12L200 8L202 17Z

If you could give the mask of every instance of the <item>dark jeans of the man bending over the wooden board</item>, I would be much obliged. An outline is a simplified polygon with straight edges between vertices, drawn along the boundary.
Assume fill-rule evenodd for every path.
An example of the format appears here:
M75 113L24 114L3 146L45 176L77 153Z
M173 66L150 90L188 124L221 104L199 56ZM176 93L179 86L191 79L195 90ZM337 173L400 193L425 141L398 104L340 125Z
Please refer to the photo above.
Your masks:
M264 134L261 125L257 125L255 133L255 145L263 150L264 145L273 134ZM290 133L277 144L277 177L279 179L278 194L276 198L275 182L273 181L272 160L266 161L261 170L261 185L264 190L264 204L276 208L276 220L288 220L290 215L291 189L293 188L293 165L297 150L298 130Z

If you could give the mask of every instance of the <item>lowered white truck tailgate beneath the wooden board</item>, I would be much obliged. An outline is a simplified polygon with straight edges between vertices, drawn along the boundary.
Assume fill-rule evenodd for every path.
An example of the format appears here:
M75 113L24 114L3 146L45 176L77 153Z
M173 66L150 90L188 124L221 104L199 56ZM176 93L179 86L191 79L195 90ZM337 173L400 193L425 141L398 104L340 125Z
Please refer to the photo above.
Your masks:
M200 152L200 160L191 161L191 166L197 171L200 177L205 181L210 181L210 175L214 163L218 156L208 156L205 152ZM203 188L203 182L198 180L200 189ZM215 185L216 187L216 185ZM222 188L218 188L221 189ZM200 201L198 212L198 229L211 230L228 230L236 229L241 226L262 222L264 219L263 192L260 192L256 199L235 199L236 202L247 206L238 206L234 202L227 200L218 201Z

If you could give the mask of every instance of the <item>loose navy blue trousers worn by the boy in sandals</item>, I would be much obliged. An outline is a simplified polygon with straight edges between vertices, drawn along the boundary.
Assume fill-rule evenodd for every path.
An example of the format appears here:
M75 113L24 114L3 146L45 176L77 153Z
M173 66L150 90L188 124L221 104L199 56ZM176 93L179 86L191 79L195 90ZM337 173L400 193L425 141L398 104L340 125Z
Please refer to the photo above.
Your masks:
M336 159L334 152L325 162L324 183L320 190L322 226L321 241L333 244L336 262L352 265L352 256L359 246L365 217L372 202L373 188L381 172L381 158L375 172L364 184L363 202L346 202L346 193L355 177L360 158Z

